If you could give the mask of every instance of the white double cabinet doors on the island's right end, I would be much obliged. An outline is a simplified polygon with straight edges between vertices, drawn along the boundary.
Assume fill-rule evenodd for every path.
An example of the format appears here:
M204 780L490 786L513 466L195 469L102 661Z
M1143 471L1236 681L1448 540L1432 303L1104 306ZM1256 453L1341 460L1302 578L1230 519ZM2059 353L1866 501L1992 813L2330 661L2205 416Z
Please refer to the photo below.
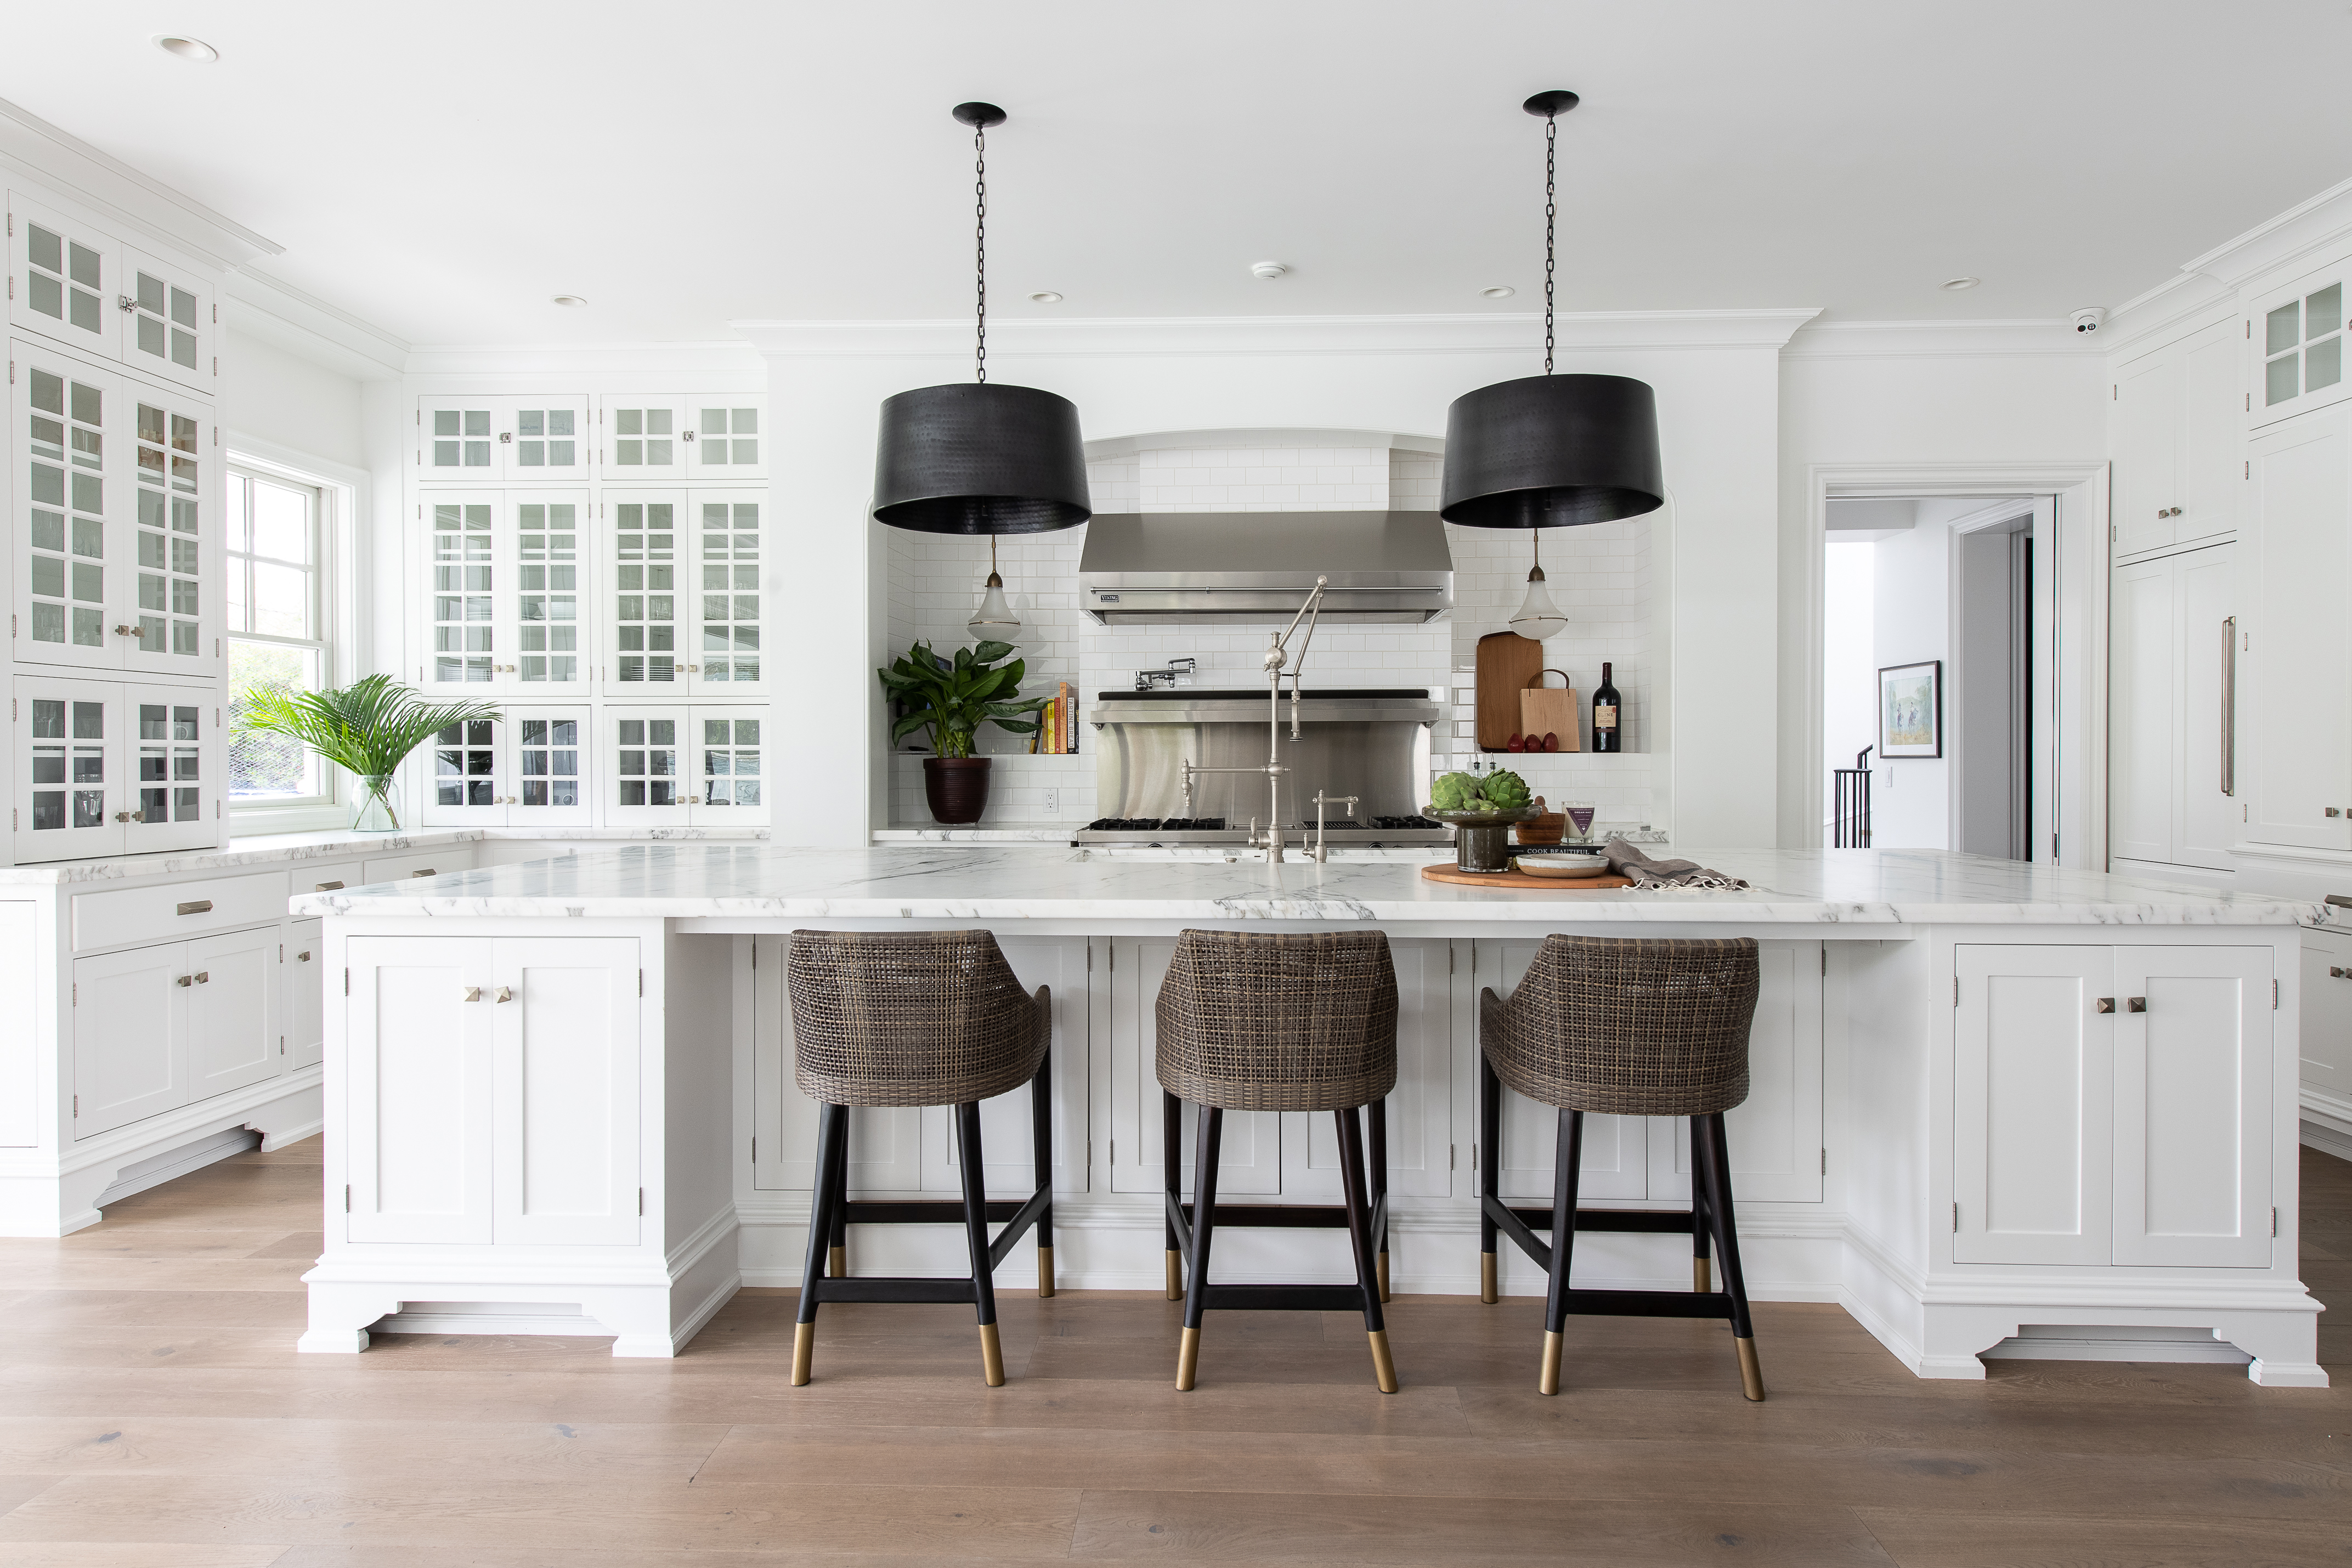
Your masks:
M1952 1260L2270 1265L2270 947L1955 947Z

